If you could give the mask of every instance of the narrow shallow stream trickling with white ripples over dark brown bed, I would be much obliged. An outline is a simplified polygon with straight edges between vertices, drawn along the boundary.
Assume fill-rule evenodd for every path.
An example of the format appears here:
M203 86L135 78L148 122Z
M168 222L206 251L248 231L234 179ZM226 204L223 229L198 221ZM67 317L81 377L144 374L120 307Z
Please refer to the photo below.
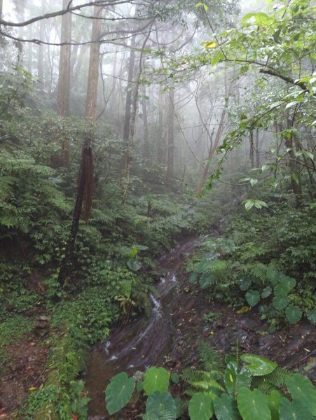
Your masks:
M104 390L111 377L118 372L133 374L157 365L172 349L176 335L172 312L179 304L177 273L200 240L186 239L158 261L158 269L167 275L156 285L159 297L150 295L151 317L138 316L114 331L107 342L92 348L85 377L90 395L89 420L106 418Z

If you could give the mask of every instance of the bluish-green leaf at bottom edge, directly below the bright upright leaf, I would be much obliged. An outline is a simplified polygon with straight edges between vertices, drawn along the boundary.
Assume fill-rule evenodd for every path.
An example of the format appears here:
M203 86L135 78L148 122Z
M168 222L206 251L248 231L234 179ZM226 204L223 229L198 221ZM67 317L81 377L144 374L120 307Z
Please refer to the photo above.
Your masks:
M156 416L156 420L175 420L177 405L169 392L155 392L146 401L146 415Z

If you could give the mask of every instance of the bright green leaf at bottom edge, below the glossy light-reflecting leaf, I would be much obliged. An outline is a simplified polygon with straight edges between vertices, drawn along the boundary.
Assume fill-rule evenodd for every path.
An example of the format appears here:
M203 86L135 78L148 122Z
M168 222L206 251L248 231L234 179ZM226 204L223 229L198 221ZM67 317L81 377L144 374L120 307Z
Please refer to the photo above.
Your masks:
M271 413L264 395L259 389L241 388L237 395L242 420L271 420Z

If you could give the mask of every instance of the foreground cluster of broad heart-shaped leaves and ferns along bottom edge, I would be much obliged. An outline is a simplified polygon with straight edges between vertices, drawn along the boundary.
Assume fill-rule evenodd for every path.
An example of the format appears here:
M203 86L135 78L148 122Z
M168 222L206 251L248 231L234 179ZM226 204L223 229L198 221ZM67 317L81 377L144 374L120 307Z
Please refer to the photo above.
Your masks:
M219 357L207 344L202 343L198 349L201 363L205 370L189 367L181 373L181 379L190 388L185 391L191 398L188 401L188 414L191 420L209 420L213 414L218 420L266 420L295 419L298 409L303 413L303 419L312 419L316 412L316 389L312 383L301 374L291 374L278 367L276 363L255 354L243 354L226 357L227 363ZM169 386L169 373L163 367L150 367L144 374L144 383L136 386L137 392L145 391L147 420L171 420L181 416L183 402L180 398L172 398L165 391ZM161 380L160 380L161 379ZM125 372L116 375L106 394L121 395L125 391L128 379ZM163 386L160 384L163 382ZM117 389L114 391L114 385ZM164 391L158 391L158 388ZM109 412L117 412L128 403L134 388L134 380L130 381L130 389L126 392L124 404L118 404L113 396L115 410L109 402ZM122 391L123 390L123 391ZM282 395L289 396L291 401ZM108 404L108 399L107 399ZM178 407L178 408L177 408Z

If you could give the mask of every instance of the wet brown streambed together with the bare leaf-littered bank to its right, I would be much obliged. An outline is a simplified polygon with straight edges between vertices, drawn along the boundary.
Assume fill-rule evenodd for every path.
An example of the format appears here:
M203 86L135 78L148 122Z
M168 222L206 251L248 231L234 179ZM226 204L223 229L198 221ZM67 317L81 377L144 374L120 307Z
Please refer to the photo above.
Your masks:
M89 420L109 419L104 390L115 374L125 371L131 375L151 365L164 365L180 373L198 363L196 349L202 339L223 354L238 342L243 352L261 354L316 380L314 325L302 321L269 334L256 309L238 314L225 304L206 299L203 291L188 283L181 271L201 241L186 239L158 260L162 274L156 285L158 293L150 295L150 318L138 316L114 329L107 342L92 348L84 378L90 395ZM218 314L212 323L204 318L209 311ZM122 418L136 419L137 414L127 412Z

